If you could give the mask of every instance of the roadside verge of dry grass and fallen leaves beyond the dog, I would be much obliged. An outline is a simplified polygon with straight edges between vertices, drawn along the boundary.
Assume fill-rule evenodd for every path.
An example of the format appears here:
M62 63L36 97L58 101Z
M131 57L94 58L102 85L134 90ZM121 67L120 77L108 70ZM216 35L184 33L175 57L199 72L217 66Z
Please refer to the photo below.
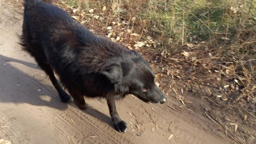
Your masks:
M182 84L184 91L213 104L216 113L212 115L223 116L225 112L225 116L234 118L231 121L243 123L244 127L238 128L244 131L239 138L253 143L256 137L253 135L256 2L253 1L199 0L187 4L175 0L174 4L159 0L64 0L57 4L91 31L142 53L156 71L156 79L166 95L171 95L174 85ZM187 106L186 97L176 96ZM240 115L248 116L249 120L244 122L244 117L238 118ZM219 125L225 131L225 118L220 119L223 121ZM244 143L231 131L228 133L236 142Z

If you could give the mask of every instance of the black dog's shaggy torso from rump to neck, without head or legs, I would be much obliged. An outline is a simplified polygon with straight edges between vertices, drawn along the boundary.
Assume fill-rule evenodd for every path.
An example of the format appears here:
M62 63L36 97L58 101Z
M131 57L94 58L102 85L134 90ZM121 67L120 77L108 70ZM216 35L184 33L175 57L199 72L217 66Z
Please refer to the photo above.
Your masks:
M83 90L89 97L114 90L100 71L121 60L140 57L118 43L96 36L67 12L44 1L25 2L22 39L25 50L38 63L48 63L65 87Z

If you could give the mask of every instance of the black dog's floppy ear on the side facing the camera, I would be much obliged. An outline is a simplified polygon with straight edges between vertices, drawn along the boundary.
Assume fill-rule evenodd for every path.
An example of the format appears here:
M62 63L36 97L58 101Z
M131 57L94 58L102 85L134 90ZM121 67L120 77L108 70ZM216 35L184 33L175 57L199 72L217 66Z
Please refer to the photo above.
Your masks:
M119 83L123 79L122 69L116 65L110 66L108 69L101 71L100 73L105 75L112 84Z

